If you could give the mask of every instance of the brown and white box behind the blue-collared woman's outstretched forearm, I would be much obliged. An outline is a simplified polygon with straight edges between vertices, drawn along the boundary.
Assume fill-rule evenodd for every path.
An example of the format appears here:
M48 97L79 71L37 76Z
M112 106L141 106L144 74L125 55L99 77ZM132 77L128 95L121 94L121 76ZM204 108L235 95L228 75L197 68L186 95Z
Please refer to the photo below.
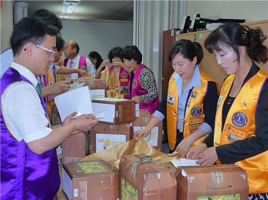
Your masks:
M134 133L138 130L144 129L149 121L151 120L151 115L143 115L140 113L139 117L136 117L133 122ZM152 145L155 149L160 150L162 147L162 133L163 133L163 123L158 123L155 127L153 127L151 133L145 137L145 141Z

